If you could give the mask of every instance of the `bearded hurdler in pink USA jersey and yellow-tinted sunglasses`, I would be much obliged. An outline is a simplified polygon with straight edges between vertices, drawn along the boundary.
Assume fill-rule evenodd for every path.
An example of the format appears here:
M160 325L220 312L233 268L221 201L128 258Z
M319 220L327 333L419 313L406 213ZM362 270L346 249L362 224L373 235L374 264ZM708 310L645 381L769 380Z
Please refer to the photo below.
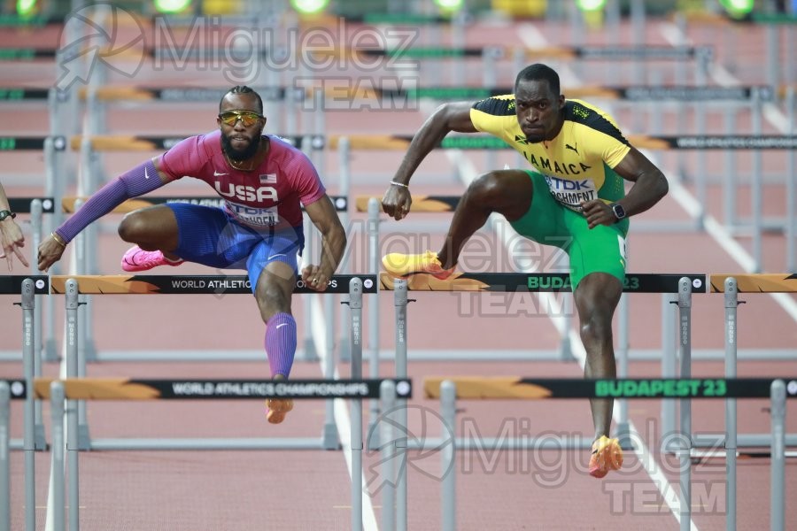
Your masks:
M262 134L266 118L255 91L230 89L221 99L216 123L219 131L187 138L98 190L39 246L39 270L47 271L83 228L126 199L182 177L201 179L224 198L224 208L175 203L130 212L119 235L135 246L122 258L122 269L146 271L186 260L246 269L267 324L272 377L287 378L297 343L290 296L304 246L301 206L322 235L321 264L302 270L311 289L327 289L346 235L310 160L289 143ZM268 400L267 406L268 421L277 424L293 402Z

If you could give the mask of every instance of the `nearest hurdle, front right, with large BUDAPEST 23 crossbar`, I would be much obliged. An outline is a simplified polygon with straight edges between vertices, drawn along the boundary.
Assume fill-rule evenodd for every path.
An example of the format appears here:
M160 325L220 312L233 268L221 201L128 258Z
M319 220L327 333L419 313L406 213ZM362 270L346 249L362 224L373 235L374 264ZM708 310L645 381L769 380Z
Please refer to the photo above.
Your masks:
M789 379L786 379L789 380ZM786 398L797 397L797 380L791 379L786 386L784 379L724 378L724 379L538 379L538 378L482 378L482 377L437 377L423 381L426 397L440 399L440 411L445 427L450 430L451 443L442 452L443 470L449 469L456 459L456 450L462 448L456 438L457 399L558 399L558 398L602 398L612 396L626 399L664 398L669 400L724 399L769 397L772 425L770 464L770 528L785 529L785 406ZM682 427L688 428L688 423ZM682 439L677 449L681 472L678 496L680 529L688 530L692 525L691 499L691 452L693 449L691 429L680 432ZM637 434L638 442L641 438ZM538 446L535 449L543 449ZM561 450L562 447L556 447ZM735 481L735 479L734 479ZM730 483L731 481L729 481ZM441 485L441 529L456 529L456 482L455 473L445 475ZM392 505L391 505L392 508ZM397 514L404 512L406 505L397 504ZM728 504L727 528L735 529L735 499ZM731 518L731 515L733 518ZM400 518L397 516L397 518ZM405 516L406 518L406 516Z

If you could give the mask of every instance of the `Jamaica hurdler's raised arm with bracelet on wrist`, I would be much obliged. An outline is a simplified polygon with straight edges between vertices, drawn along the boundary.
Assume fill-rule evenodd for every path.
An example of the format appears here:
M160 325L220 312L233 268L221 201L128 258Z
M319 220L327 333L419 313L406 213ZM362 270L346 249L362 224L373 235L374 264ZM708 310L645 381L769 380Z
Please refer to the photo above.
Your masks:
M398 184L389 184L384 193L382 208L385 213L397 220L406 216L413 204L408 188L409 181L422 160L443 141L445 135L451 131L476 133L476 127L470 119L472 105L470 102L440 105L423 123L410 142L399 170L393 176L392 182Z

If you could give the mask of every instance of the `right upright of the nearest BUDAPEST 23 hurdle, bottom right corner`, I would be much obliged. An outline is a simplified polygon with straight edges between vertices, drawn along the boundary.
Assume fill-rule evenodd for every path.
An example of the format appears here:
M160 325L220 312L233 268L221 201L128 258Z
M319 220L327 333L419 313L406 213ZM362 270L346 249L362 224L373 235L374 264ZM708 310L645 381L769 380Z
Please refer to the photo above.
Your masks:
M783 380L772 382L770 400L772 416L770 530L783 531L785 529L785 383Z

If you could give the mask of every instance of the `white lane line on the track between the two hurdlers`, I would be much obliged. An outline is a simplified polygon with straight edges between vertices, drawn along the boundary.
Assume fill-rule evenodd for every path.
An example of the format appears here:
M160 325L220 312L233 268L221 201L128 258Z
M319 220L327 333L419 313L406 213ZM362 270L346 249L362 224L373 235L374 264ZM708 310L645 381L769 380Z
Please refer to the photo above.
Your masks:
M321 371L323 371L324 360L331 355L327 352L327 331L324 327L324 311L321 305L320 296L311 296L311 312L313 312L313 342L315 349L318 351L318 357L321 358ZM335 368L334 378L340 378L340 373ZM352 477L352 420L349 417L349 408L342 398L336 398L333 401L335 409L335 426L337 427L337 436L340 439L341 446L343 447L344 458L346 459L346 468L349 470L349 477ZM361 485L367 485L365 478L365 471L360 472L362 475ZM379 527L376 525L376 514L374 512L374 505L371 504L371 496L363 489L362 492L362 528L365 531L378 531Z

